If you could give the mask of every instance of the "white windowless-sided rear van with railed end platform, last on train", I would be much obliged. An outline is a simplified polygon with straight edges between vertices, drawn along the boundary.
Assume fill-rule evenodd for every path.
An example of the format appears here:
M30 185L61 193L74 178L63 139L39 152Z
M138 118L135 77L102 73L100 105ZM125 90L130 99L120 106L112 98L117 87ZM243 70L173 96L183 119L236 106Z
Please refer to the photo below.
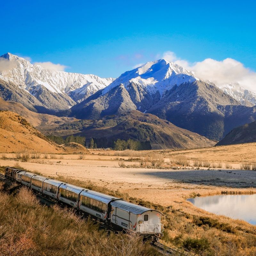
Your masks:
M161 212L122 200L110 203L111 222L124 229L132 229L144 236L163 236Z

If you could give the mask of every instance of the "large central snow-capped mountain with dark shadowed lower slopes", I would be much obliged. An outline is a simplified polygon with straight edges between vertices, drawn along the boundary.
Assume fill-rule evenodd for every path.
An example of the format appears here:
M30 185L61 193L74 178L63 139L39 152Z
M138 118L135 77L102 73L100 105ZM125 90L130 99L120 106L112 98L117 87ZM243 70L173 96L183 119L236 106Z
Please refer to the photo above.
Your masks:
M173 62L156 60L125 72L73 106L71 115L97 119L139 110L220 140L237 125L256 119L256 107L240 101Z

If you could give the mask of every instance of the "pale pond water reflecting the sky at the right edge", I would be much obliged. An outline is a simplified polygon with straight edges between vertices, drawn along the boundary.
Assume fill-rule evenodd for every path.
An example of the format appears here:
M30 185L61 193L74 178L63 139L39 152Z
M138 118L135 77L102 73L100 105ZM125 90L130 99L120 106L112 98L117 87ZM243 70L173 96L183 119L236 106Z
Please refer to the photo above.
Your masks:
M256 194L199 196L189 198L188 201L205 211L256 225Z

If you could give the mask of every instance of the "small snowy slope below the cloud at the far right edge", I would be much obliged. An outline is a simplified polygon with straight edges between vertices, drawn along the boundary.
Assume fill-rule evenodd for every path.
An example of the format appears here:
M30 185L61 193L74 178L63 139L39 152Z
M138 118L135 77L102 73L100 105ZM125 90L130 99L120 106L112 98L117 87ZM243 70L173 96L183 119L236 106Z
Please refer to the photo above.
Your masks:
M256 93L245 89L239 83L228 84L224 87L220 87L220 89L224 93L229 94L231 97L241 102L244 106L256 105Z

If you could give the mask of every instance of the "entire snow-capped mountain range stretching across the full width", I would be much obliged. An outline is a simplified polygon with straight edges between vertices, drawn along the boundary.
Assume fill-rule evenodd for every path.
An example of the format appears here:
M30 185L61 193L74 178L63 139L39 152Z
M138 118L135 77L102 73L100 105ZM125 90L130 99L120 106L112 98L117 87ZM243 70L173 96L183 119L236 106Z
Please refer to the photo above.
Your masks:
M211 140L256 119L256 94L239 84L222 88L179 65L156 60L116 79L48 70L10 53L0 96L38 113L102 119L138 110Z

